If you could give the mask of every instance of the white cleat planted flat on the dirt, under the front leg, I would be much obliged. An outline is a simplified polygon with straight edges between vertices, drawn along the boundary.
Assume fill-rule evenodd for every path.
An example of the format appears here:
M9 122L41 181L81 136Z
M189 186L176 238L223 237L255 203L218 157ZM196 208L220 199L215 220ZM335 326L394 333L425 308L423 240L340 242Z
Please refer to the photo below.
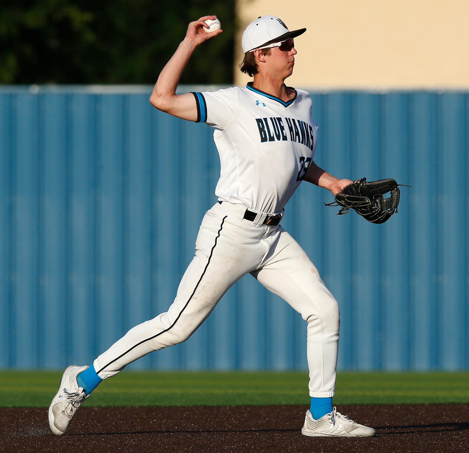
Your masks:
M310 410L306 411L301 433L303 436L372 437L376 431L350 420L348 416L337 412L334 406L332 412L322 416L319 420L313 418Z

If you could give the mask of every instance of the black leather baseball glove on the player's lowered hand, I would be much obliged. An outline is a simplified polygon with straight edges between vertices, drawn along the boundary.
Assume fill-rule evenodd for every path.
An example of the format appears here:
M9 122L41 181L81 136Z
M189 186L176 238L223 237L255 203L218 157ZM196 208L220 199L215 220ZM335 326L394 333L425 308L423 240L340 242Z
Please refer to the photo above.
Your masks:
M362 178L345 186L335 195L334 202L324 204L325 206L341 206L338 215L347 214L351 208L368 222L384 223L397 212L397 205L401 198L401 191L397 186L403 186L403 184L397 184L394 179L366 182L366 178ZM383 198L383 195L388 192L391 193L390 197Z

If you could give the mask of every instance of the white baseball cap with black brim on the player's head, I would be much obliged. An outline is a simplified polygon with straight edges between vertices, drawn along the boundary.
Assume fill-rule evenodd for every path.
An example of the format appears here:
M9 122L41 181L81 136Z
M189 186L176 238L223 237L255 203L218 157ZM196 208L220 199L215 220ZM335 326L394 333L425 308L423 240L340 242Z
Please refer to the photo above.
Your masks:
M305 31L305 28L288 31L288 27L276 16L258 17L242 34L242 51L246 53L267 43L295 38Z

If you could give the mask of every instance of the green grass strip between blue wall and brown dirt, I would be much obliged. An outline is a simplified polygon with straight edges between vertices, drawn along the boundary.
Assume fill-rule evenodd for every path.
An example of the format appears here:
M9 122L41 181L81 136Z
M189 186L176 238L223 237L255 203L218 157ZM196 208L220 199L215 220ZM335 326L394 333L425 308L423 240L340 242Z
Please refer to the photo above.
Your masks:
M47 407L62 371L0 371L0 407ZM305 372L135 372L106 380L87 406L309 404ZM334 404L469 402L469 372L340 372Z

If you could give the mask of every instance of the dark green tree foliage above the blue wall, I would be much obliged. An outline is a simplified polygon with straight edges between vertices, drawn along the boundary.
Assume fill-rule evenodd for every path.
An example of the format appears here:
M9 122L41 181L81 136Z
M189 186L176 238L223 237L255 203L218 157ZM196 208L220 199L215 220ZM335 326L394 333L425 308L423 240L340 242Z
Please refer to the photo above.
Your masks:
M3 0L0 83L154 83L190 21L223 33L197 48L181 83L231 83L234 0Z

